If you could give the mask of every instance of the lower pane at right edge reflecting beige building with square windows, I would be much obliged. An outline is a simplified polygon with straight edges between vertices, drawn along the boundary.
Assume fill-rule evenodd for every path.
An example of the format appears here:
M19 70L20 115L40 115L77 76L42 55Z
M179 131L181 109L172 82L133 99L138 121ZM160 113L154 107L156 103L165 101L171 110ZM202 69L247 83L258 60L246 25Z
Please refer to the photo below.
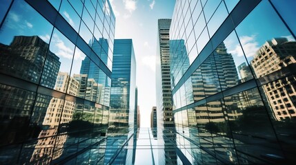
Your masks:
M292 74L260 87L282 148L293 159L296 143L296 76ZM288 142L288 143L287 143Z

